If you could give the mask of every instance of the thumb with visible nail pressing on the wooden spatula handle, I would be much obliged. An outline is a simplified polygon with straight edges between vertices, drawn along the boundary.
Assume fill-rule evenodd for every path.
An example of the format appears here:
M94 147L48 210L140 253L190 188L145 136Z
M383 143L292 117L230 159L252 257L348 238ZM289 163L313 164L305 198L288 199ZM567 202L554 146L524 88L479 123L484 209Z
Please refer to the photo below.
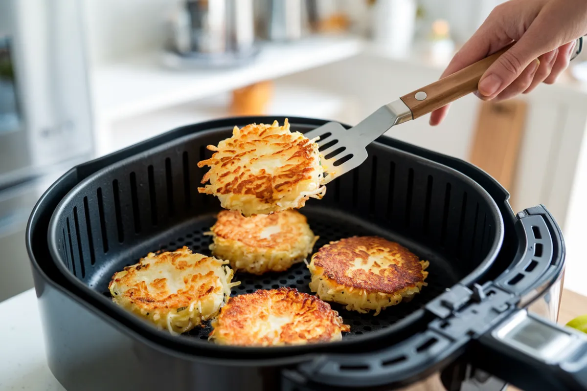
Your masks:
M532 45L533 46L533 45ZM524 36L485 71L477 89L484 98L494 98L505 90L542 53L528 43Z

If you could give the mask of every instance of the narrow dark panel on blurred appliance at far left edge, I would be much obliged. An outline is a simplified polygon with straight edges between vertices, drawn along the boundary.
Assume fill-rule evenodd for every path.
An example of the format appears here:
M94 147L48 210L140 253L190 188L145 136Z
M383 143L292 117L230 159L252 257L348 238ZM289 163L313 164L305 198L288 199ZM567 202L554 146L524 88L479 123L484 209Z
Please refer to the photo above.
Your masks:
M20 128L11 40L0 36L0 135Z

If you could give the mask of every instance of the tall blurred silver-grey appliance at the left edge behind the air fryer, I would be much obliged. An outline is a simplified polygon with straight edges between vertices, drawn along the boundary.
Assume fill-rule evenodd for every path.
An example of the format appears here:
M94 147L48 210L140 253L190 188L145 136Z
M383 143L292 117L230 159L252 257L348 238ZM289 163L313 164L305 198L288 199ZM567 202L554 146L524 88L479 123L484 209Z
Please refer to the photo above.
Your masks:
M79 7L0 2L0 301L33 285L24 237L36 200L92 157Z

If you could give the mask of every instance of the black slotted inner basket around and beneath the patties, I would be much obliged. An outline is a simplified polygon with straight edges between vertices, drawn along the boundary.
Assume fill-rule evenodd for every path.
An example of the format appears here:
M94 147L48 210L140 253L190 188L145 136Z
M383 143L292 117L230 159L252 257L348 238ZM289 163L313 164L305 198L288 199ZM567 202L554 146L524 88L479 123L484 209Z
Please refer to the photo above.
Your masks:
M150 251L186 245L209 254L211 238L204 233L220 203L197 192L205 169L196 163L210 157L206 145L230 137L231 131L224 127L179 138L76 186L60 203L49 232L53 256L66 276L109 298L110 277ZM377 317L333 305L351 326L345 339L389 327L458 281L476 280L501 246L501 215L481 186L446 166L381 144L370 145L365 164L330 183L325 198L312 201L300 211L320 236L316 250L343 237L374 234L430 261L428 286L410 303ZM241 285L232 295L278 287L311 293L303 263L285 273L237 273L235 280ZM183 342L217 348L207 341L209 332L195 328L193 338Z

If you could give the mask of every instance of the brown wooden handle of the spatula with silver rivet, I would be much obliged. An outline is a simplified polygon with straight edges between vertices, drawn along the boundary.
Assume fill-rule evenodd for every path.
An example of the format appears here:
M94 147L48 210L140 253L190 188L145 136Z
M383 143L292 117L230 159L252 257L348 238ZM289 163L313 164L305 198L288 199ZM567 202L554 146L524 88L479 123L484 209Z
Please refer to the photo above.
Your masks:
M481 76L512 45L508 45L499 52L485 57L483 60L471 64L456 73L428 84L426 87L404 95L402 101L410 108L412 118L415 120L460 97L477 91L477 84L479 84Z

